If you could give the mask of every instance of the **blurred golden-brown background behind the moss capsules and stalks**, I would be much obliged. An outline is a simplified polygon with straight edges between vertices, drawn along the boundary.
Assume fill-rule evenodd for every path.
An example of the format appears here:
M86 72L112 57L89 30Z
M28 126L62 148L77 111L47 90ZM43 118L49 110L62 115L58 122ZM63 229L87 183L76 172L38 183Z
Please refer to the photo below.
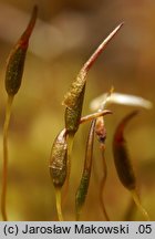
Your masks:
M39 19L30 40L22 86L13 102L9 129L8 215L10 220L56 220L49 157L64 127L64 93L99 43L122 21L123 29L87 75L83 115L90 102L114 85L116 92L155 102L155 2L152 0L0 0L0 175L8 54L24 30L32 7ZM130 193L116 176L112 155L115 127L133 107L112 105L106 116L108 176L105 206L111 220L123 220ZM89 124L76 134L64 218L74 220L74 197L82 173ZM142 202L155 220L155 111L141 110L125 132ZM102 158L95 143L91 185L82 220L104 220L99 202ZM0 187L1 188L1 187ZM135 211L133 220L143 220Z

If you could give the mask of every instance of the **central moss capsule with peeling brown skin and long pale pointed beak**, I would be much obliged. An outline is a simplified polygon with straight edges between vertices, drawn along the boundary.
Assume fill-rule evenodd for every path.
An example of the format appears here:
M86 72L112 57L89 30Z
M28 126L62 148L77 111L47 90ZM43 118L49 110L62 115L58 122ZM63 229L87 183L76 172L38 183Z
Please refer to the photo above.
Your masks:
M65 110L65 128L68 133L73 133L79 128L82 107L83 107L83 100L84 100L84 92L85 92L85 84L86 84L86 75L93 63L96 61L99 55L103 52L106 44L113 39L113 37L121 29L123 23L121 23L117 28L112 31L112 33L99 45L96 51L91 55L91 58L86 61L86 63L81 69L76 80L72 83L69 92L64 95L63 105L66 106Z

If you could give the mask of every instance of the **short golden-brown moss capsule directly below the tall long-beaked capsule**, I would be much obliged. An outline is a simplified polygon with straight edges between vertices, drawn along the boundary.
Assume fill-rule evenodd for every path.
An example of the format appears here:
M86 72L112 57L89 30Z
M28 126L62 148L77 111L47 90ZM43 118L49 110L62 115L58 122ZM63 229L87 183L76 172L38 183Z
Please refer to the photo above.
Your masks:
M54 141L50 156L50 174L54 187L62 187L66 178L68 145L65 129Z

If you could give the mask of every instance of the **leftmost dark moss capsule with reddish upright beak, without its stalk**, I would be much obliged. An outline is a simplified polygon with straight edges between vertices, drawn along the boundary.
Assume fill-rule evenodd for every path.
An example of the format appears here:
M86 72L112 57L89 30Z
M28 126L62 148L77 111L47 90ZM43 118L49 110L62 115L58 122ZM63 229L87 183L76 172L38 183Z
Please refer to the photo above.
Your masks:
M17 94L18 90L20 89L27 49L30 35L35 24L37 12L38 8L35 6L33 8L32 17L25 31L23 32L8 58L6 71L6 91L9 95Z

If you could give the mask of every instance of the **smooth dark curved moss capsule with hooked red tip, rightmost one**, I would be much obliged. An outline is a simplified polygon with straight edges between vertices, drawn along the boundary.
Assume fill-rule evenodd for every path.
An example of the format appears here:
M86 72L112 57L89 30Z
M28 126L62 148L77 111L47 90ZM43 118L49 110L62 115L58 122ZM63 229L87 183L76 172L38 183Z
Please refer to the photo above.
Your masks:
M113 141L114 163L117 175L124 187L130 190L135 189L136 180L124 139L124 128L136 114L137 111L132 112L118 124Z

